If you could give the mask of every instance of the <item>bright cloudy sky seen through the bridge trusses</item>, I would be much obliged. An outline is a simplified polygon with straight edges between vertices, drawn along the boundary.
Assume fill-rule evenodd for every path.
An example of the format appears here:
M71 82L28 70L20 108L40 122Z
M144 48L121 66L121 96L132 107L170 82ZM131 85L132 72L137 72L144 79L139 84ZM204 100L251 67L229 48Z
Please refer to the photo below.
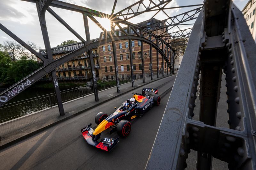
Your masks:
M114 0L62 0L67 3L84 6L93 10L101 11L107 14L111 14ZM118 0L114 13L121 11L122 9L134 4L138 0ZM157 0L154 0L155 2ZM148 0L144 1L145 4ZM242 10L248 0L233 0L234 4ZM203 4L203 0L172 0L166 7L185 6L193 4ZM198 6L199 7L199 6ZM175 16L185 11L193 10L198 7L189 8L177 8L172 10L165 10L169 16ZM84 23L83 16L79 12L63 10L55 7L51 7L65 22L67 22L77 33L79 33L84 39ZM139 23L151 18L155 12L147 12L132 19L129 22ZM165 19L167 16L160 11L156 16L156 19ZM99 22L106 27L109 27L107 19L96 18ZM195 21L195 20L194 20ZM192 22L194 22L192 21ZM88 19L89 30L91 39L99 38L102 30ZM41 33L39 19L36 11L35 3L25 2L21 0L0 0L0 23L7 29L12 31L21 40L33 41L41 48L44 48L44 41ZM79 42L79 40L70 33L62 24L60 24L49 12L46 11L46 24L50 39L51 47L56 47L63 41L73 39ZM180 26L181 29L189 28L191 26ZM177 31L178 28L173 28L172 31ZM0 30L0 44L4 41L14 41L10 36Z

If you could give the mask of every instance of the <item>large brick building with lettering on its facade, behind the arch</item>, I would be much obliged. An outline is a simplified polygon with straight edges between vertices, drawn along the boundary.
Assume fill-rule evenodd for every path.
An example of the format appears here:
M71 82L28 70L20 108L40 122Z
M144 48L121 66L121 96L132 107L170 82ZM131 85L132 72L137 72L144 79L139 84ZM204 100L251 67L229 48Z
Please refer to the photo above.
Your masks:
M148 23L141 22L139 24L136 24L139 26L143 25L150 25L148 26L148 30L152 30L152 28L161 28L164 26L163 23L160 22L160 20L157 20L155 18L148 21ZM162 28L156 31L153 31L155 34L161 34L164 32L164 29ZM127 28L124 28L124 31L127 32ZM138 33L139 30L136 30ZM130 30L131 34L135 34L132 30ZM115 36L121 36L124 35L119 29L115 30ZM146 38L149 39L149 36ZM100 33L100 40L104 40L105 36L103 33ZM156 43L156 40L153 41ZM117 56L117 65L118 65L118 74L119 78L121 79L130 79L131 77L131 65L130 65L130 53L129 53L129 42L128 40L120 40L115 41L116 44L116 56ZM165 45L163 46L165 48ZM144 59L144 73L145 76L150 76L150 50L149 45L147 43L143 43L143 53L147 53L147 58ZM141 59L139 59L139 56L141 52L141 42L137 40L132 40L132 62L133 62L133 74L136 78L142 77L142 64ZM103 45L99 46L99 54L100 54L100 66L101 66L101 75L100 78L103 80L113 79L115 78L115 67L114 67L114 58L113 58L113 47L112 43L105 43ZM144 55L144 54L143 54ZM162 56L159 54L159 74L162 73ZM153 69L153 75L157 72L157 61L156 61L156 49L152 47L152 69ZM164 71L166 71L166 62L164 61Z

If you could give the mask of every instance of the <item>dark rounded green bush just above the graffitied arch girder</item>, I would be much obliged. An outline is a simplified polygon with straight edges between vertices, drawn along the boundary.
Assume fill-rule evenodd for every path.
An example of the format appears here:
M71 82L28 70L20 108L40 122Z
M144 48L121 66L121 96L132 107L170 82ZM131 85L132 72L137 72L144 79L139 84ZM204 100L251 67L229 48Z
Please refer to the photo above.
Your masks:
M21 60L12 62L12 65L7 72L7 77L9 78L8 84L13 84L21 80L40 67L41 64L32 60L27 60L26 57L21 57Z

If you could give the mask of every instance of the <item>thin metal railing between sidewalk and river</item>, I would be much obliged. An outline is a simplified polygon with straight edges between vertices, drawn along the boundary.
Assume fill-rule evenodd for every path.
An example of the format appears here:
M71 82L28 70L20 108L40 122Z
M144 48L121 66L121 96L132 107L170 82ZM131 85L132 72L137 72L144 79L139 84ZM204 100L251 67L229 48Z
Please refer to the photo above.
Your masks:
M156 75L154 72L153 75ZM150 77L150 73L145 73L145 77ZM142 73L134 74L134 79L142 78ZM128 74L119 75L119 83L124 84L131 81L131 76ZM116 79L109 78L108 80L98 81L98 91L116 86ZM71 88L68 90L60 91L62 102L73 100L76 98L84 97L87 94L93 93L92 83L87 85ZM49 93L34 98L21 100L13 103L7 103L0 107L0 122L5 122L23 115L28 115L33 112L49 108L57 105L55 93Z

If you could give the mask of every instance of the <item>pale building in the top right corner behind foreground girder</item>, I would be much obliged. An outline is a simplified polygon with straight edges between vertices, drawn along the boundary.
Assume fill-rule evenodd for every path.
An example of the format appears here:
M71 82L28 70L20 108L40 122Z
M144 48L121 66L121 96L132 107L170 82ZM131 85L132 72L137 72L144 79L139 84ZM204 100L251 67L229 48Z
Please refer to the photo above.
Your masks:
M256 40L256 0L249 0L243 9L244 18L252 33L252 38ZM256 41L255 41L256 42Z

